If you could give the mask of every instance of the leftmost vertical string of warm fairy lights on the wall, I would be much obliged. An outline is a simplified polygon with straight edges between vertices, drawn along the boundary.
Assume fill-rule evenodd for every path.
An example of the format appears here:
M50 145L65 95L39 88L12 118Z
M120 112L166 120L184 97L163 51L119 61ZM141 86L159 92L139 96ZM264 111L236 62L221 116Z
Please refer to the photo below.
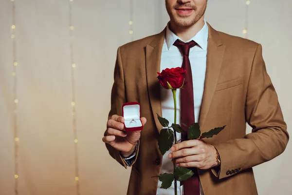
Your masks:
M15 0L11 0L12 3L12 25L11 25L11 40L12 40L12 56L13 56L13 133L14 133L14 194L18 195L18 98L17 98L17 60L16 60L16 20L15 20Z

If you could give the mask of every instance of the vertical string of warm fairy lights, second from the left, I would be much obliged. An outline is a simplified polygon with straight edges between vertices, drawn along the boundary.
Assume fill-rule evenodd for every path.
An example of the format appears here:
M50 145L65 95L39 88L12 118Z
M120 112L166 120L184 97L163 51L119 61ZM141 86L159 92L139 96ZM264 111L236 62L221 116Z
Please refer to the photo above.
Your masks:
M75 183L76 183L76 193L80 195L80 187L79 187L79 159L78 159L78 139L77 139L77 128L76 128L76 108L75 108L75 76L74 70L76 64L74 63L74 53L73 53L73 43L74 43L74 36L73 36L73 20L72 20L72 3L73 0L69 0L69 29L70 29L70 59L71 59L71 84L72 84L72 121L73 121L73 136L74 136L74 155L75 155Z

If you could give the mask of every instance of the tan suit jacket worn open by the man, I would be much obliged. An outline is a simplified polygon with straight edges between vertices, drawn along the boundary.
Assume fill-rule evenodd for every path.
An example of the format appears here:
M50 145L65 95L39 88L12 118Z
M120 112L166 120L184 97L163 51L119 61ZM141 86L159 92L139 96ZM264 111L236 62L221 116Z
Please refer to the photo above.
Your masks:
M204 138L219 151L221 168L198 170L205 195L257 195L252 167L280 155L289 135L277 94L267 74L262 47L251 40L227 35L209 24L207 70L199 117L201 131L227 125L217 136ZM155 195L162 155L158 148L162 129L160 72L165 29L118 48L109 118L122 116L122 104L138 101L147 123L128 195ZM180 64L178 64L180 66ZM246 123L253 133L246 134ZM110 155L127 168L120 152L106 144ZM126 179L126 178L125 178Z

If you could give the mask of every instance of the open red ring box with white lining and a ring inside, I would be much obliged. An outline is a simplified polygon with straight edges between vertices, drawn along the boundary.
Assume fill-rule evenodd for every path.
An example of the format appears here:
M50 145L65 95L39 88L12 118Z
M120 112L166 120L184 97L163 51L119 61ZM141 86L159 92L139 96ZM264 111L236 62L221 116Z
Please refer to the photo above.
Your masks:
M124 127L126 131L140 131L143 129L140 120L141 110L138 102L126 102L123 104L123 117L125 118ZM136 122L131 122L134 119Z

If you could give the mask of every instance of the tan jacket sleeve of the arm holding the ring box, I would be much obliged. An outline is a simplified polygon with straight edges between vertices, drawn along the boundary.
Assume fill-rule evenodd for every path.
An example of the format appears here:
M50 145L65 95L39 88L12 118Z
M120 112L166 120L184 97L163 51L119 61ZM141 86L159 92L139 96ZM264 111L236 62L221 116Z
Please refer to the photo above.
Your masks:
M122 57L121 57L121 47L119 47L117 51L117 59L116 59L116 64L114 68L114 83L111 89L111 108L110 108L108 119L110 119L112 115L122 116L122 106L126 102L126 100L127 99L126 99L126 91L125 91L124 70L123 70L123 63L122 63ZM132 162L132 164L136 162L137 157L138 157L139 145L140 145L139 141L137 144L138 145L137 145L136 157L134 161ZM110 153L110 156L113 157L116 161L118 161L126 169L128 166L132 165L132 164L128 165L126 160L122 158L120 151L111 147L110 144L106 144L106 147Z

